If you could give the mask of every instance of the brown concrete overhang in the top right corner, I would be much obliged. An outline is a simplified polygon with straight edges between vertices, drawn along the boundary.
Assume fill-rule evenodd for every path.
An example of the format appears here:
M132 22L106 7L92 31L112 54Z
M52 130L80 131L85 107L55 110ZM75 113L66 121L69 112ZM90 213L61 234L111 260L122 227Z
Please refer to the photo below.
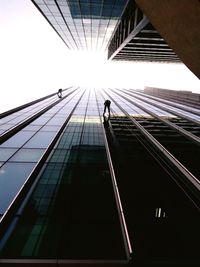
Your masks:
M200 1L135 2L181 61L200 78Z

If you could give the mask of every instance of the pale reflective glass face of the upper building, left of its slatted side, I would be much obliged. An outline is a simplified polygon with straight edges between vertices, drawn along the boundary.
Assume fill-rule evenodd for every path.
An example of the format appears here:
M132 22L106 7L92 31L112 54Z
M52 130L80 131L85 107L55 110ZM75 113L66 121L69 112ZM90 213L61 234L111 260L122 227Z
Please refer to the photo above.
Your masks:
M32 0L69 49L102 51L127 0Z

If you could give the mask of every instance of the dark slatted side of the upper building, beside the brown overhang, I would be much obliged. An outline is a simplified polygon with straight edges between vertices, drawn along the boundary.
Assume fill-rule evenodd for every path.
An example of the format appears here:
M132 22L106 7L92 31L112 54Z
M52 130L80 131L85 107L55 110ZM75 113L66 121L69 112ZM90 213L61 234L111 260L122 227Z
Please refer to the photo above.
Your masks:
M124 10L110 41L108 58L120 61L180 61L135 0L130 0Z

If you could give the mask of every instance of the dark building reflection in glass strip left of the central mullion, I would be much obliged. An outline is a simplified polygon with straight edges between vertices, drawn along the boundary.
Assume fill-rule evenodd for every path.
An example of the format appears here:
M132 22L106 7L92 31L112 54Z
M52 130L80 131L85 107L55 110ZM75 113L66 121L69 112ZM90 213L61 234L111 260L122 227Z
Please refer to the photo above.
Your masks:
M70 159L47 165L5 257L126 258L105 149L77 146Z

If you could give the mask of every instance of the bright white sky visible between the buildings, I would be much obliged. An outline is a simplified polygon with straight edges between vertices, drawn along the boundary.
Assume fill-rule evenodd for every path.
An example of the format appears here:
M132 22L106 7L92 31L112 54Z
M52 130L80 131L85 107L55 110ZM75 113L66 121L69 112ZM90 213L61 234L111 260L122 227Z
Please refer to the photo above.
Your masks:
M106 61L71 52L30 0L0 0L0 112L70 85L200 93L199 79L183 64Z

